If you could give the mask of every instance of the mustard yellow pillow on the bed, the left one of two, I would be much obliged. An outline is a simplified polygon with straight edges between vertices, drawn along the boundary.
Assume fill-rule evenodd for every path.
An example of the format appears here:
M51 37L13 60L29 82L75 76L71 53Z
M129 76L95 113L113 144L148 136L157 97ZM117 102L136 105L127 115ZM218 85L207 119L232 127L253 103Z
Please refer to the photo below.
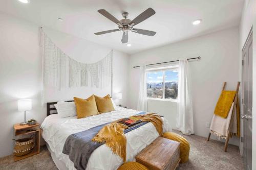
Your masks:
M77 118L84 118L99 114L94 95L88 99L74 98Z

